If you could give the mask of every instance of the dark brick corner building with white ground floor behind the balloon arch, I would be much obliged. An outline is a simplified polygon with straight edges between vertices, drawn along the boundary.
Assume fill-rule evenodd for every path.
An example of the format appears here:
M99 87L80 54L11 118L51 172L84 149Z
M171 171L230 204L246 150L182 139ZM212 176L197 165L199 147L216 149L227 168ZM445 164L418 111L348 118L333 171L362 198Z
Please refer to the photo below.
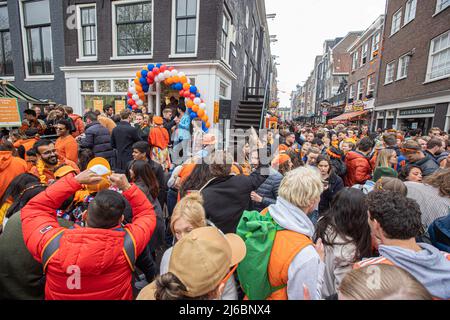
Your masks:
M82 113L123 107L130 81L149 63L183 71L202 93L207 114L220 99L233 112L245 86L264 86L271 53L264 1L64 0L67 103ZM178 92L155 85L149 111ZM228 121L227 126L230 126Z

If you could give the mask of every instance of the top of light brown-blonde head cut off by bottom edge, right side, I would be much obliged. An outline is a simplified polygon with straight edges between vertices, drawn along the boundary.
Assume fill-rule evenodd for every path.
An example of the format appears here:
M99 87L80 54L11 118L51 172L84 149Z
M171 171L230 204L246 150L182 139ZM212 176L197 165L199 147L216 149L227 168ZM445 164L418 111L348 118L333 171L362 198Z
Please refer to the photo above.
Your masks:
M428 290L411 274L384 264L349 272L339 292L351 300L432 300Z

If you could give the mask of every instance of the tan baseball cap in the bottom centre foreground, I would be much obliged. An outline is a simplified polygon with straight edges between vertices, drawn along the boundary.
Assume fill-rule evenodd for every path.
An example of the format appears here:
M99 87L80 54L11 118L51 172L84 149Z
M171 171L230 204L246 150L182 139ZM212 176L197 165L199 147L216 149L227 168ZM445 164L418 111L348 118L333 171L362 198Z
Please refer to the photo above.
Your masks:
M238 235L224 235L215 227L198 228L174 246L169 272L186 287L185 296L201 297L228 280L230 268L240 263L246 253L245 243ZM154 300L155 292L153 282L141 291L138 300Z

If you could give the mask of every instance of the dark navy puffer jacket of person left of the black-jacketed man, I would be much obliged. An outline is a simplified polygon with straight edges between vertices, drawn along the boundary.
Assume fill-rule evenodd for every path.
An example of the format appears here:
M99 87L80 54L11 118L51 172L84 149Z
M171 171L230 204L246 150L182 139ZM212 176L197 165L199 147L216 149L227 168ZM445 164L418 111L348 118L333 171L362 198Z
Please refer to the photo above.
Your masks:
M105 158L113 163L114 150L108 129L95 121L86 126L85 134L86 137L80 141L81 148L91 149L96 157Z

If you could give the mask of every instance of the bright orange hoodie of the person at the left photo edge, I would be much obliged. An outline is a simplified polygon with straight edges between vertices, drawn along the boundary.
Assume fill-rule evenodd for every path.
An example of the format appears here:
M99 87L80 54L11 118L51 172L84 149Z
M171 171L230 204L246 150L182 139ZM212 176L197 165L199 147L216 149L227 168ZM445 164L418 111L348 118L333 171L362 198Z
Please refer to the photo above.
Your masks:
M11 151L0 151L0 198L11 181L27 172L25 160L13 157Z

